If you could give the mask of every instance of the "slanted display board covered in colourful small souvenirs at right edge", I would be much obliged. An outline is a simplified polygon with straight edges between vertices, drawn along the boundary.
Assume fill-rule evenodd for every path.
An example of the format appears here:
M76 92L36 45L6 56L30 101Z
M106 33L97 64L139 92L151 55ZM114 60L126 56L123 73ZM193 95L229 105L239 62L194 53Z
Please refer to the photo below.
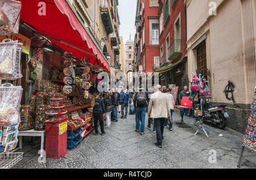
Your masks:
M256 152L256 87L254 93L255 95L253 97L253 102L251 103L251 111L245 131L245 137L243 138L243 145Z

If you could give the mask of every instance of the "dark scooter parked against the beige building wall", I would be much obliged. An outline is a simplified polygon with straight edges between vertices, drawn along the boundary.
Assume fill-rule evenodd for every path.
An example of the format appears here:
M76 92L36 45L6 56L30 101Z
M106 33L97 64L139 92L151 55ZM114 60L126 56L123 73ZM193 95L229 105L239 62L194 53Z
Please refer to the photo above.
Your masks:
M201 109L203 111L203 120L210 121L218 128L224 129L228 125L229 113L226 111L226 105L213 106L206 99L201 100Z

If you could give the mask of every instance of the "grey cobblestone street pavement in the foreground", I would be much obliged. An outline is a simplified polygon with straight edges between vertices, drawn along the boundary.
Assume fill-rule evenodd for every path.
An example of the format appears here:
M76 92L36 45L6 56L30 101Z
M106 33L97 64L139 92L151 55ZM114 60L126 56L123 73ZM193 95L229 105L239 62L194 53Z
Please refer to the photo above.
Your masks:
M135 130L135 115L127 119L112 122L112 127L105 128L105 136L90 133L75 149L68 150L66 158L47 159L46 164L38 163L40 144L24 146L19 152L25 152L23 160L13 168L237 168L243 135L232 129L205 127L210 132L209 138L197 128L193 119L184 116L185 122L192 128L179 128L179 112L174 113L174 131L164 128L163 148L158 148L156 134L145 125L145 135ZM146 118L147 124L147 118ZM223 136L219 136L223 135ZM217 152L217 162L210 164L209 151ZM256 168L256 153L246 149L242 168Z

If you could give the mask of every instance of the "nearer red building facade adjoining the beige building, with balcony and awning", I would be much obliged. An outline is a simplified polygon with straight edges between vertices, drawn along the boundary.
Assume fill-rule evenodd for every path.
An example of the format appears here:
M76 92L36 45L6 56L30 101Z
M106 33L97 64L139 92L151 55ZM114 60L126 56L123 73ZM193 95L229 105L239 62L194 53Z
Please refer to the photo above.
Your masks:
M161 85L188 84L186 9L183 1L159 0L159 73ZM160 68L160 69L158 69Z

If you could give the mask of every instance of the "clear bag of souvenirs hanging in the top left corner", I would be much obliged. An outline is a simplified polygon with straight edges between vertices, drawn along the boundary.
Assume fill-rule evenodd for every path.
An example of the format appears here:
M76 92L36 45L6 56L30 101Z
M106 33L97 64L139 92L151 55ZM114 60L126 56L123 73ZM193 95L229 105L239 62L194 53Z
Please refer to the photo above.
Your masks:
M19 33L19 16L22 3L13 0L0 2L0 35Z

